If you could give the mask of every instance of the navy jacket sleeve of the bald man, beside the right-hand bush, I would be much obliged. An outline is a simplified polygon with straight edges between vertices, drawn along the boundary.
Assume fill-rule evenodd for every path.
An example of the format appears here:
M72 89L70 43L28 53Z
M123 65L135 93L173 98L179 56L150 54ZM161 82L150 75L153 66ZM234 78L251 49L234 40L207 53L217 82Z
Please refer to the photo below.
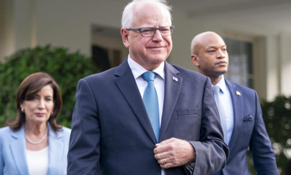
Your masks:
M258 175L278 174L276 159L272 149L272 143L266 131L265 123L262 118L262 109L258 95L254 91L256 105L255 124L250 140L250 152L253 158L255 171Z

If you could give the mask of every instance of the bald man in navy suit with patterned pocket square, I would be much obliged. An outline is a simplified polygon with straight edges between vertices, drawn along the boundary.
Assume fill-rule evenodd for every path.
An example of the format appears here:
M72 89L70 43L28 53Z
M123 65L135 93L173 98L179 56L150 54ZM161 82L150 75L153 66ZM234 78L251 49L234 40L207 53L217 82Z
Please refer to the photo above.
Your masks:
M211 31L198 34L191 42L191 53L198 71L208 76L212 85L219 87L217 98L221 102L217 105L221 125L226 124L224 139L230 155L226 166L215 175L250 174L246 161L248 147L257 174L278 174L257 93L223 76L228 69L228 53L223 39Z

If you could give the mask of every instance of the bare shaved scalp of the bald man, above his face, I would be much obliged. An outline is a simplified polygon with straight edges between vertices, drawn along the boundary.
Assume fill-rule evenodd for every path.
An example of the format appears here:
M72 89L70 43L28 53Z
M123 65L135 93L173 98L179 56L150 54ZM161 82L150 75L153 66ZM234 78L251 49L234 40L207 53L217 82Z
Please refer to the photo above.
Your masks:
M223 39L213 31L205 31L196 35L191 41L191 54L199 55L200 48L209 43L209 40L212 40L213 38L219 38L223 41Z

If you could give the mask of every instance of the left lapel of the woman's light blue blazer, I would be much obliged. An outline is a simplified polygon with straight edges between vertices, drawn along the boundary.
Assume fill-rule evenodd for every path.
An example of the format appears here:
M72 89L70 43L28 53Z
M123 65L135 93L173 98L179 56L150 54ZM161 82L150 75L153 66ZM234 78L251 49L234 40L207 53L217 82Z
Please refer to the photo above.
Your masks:
M12 132L11 136L15 141L10 143L10 149L13 160L20 174L29 174L25 155L24 127L22 126L17 132Z

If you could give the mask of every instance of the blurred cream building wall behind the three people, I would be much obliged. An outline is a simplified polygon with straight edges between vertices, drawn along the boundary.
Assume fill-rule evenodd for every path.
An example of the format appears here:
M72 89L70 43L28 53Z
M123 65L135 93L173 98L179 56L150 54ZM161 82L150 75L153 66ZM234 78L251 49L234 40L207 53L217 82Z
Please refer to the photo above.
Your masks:
M91 55L92 43L106 40L101 36L98 38L92 35L92 25L119 28L123 6L127 1L5 0L5 2L7 7L0 7L0 10L6 9L6 17L0 18L0 22L4 24L4 28L0 29L0 39L3 41L0 42L1 58L20 48L44 46L48 43ZM173 50L168 62L196 70L190 59L190 43L196 34L203 31L215 31L222 37L228 33L241 33L254 38L265 38L265 45L259 47L260 52L265 53L263 58L265 69L254 67L259 71L257 79L263 80L263 83L258 83L255 88L263 92L260 97L269 100L279 93L291 94L291 61L288 55L291 49L291 35L288 32L279 34L276 30L256 26L253 23L247 25L241 22L247 19L240 21L240 14L236 15L235 12L227 15L232 16L233 21L225 20L219 15L213 18L208 16L189 19L187 13L175 7L172 15L175 31L172 36ZM116 39L118 37L110 39L110 42ZM123 47L121 36L119 39L120 42L114 47ZM3 46L4 42L5 46ZM123 52L123 54L127 53Z

